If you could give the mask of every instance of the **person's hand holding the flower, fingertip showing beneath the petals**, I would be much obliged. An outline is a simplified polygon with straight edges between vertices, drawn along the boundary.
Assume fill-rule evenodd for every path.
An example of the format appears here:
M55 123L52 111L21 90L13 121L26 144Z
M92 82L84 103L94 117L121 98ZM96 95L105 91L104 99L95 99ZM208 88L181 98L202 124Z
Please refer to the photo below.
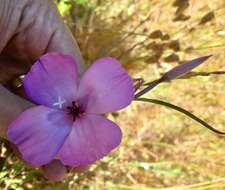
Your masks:
M7 68L7 64L29 68L41 55L61 52L75 58L80 75L84 71L77 43L52 0L0 0L0 40L1 68ZM31 106L32 102L0 85L0 136L7 139L9 124ZM66 170L54 161L44 171L48 178L59 180Z

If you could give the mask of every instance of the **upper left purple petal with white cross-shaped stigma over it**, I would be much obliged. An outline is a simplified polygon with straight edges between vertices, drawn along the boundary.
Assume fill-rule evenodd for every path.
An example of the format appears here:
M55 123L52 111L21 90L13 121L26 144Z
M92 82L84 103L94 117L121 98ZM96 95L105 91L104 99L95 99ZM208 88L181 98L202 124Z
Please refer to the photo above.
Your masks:
M37 104L62 108L71 104L77 91L77 66L69 55L42 56L23 80L26 94Z

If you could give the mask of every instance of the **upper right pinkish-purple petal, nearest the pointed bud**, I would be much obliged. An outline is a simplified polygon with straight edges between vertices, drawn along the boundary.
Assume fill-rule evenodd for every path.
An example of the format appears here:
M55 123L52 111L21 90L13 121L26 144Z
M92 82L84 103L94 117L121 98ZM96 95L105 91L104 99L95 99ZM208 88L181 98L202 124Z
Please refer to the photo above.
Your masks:
M84 74L77 99L87 113L102 114L126 107L133 96L131 77L117 60L107 57L96 61Z

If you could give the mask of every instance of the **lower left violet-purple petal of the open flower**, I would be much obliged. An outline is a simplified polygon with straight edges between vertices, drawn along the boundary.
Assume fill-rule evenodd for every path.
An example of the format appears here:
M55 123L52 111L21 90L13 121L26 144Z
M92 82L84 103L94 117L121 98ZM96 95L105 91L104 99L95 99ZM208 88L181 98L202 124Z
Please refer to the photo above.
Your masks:
M36 106L23 112L8 129L22 157L35 166L54 159L73 125L63 111Z

